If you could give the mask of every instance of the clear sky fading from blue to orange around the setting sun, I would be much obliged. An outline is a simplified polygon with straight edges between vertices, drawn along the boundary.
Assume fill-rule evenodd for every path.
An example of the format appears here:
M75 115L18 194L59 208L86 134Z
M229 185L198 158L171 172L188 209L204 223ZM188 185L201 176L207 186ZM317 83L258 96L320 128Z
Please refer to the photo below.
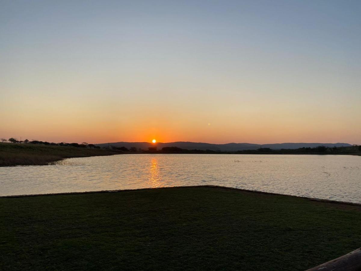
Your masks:
M0 138L361 144L361 1L0 1Z

